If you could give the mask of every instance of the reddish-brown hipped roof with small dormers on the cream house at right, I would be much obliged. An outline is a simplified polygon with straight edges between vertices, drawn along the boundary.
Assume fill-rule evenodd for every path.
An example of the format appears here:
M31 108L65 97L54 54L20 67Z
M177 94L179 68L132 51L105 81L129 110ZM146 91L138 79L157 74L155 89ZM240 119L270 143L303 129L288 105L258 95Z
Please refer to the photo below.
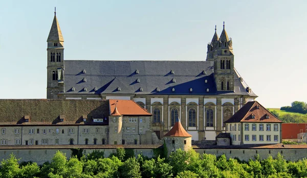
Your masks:
M257 106L259 109L257 109ZM268 114L269 118L266 118ZM252 115L255 118L252 118ZM249 101L241 109L239 109L232 117L230 117L224 123L234 123L234 122L282 122L277 117L275 117L270 111L265 107L260 105L258 101Z

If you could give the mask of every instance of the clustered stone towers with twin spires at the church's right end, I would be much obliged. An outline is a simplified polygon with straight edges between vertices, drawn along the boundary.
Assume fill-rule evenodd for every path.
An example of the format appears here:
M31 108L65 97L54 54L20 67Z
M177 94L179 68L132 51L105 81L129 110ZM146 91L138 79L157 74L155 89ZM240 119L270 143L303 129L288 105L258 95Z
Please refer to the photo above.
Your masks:
M234 89L234 55L232 40L228 38L223 24L221 37L215 33L208 44L206 61L214 61L214 79L217 91L233 91Z

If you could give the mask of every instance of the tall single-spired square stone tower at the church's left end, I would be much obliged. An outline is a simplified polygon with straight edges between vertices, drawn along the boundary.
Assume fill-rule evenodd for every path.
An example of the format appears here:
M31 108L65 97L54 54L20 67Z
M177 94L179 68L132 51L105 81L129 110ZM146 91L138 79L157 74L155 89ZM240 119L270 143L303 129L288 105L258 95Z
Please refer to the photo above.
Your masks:
M54 11L52 26L47 39L47 98L56 99L64 91L64 39Z

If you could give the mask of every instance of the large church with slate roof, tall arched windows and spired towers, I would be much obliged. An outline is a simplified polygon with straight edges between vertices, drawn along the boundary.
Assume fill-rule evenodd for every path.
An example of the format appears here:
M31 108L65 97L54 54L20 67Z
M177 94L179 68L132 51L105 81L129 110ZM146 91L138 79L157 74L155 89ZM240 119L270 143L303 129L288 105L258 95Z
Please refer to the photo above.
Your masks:
M220 37L215 27L204 61L66 60L56 13L47 44L47 99L134 100L152 114L150 130L161 140L176 119L192 142L215 140L257 97L234 68L225 24Z

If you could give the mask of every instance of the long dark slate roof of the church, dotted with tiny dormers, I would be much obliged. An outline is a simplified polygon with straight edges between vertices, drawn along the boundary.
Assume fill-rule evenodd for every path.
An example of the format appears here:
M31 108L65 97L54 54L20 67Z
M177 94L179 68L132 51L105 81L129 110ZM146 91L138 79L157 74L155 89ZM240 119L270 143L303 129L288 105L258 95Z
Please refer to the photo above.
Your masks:
M85 69L86 73L83 73ZM234 76L234 92L217 92L212 61L64 60L64 93L60 94L184 94L250 95ZM174 73L171 73L171 70ZM139 73L137 73L139 71ZM206 74L204 74L204 71ZM83 79L86 80L83 80ZM138 80L139 79L139 80ZM173 82L173 79L175 80ZM207 80L207 83L205 83ZM85 82L86 81L86 82ZM72 90L72 87L75 90ZM84 88L87 88L87 91ZM97 91L95 91L95 87ZM120 88L120 90L118 89ZM160 91L157 91L157 88ZM174 88L174 91L172 91ZM192 92L190 92L192 88ZM207 92L209 89L209 92Z

